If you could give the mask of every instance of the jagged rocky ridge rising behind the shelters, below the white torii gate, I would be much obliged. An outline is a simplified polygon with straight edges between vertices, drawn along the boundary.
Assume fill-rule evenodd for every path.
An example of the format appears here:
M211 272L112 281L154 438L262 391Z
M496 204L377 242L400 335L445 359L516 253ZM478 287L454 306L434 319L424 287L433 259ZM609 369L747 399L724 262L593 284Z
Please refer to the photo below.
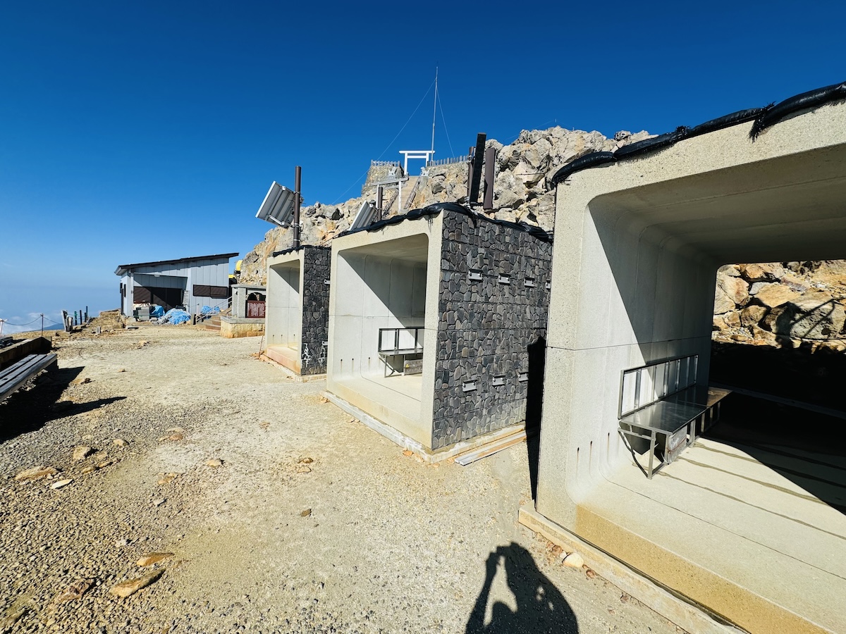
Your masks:
M494 172L494 210L489 216L508 221L525 221L551 231L555 220L555 194L547 187L547 177L569 161L595 150L613 151L622 145L649 138L640 132L618 132L608 139L598 132L568 130L555 127L546 130L524 130L509 145L491 139L487 146L497 149ZM402 167L391 162L375 161L362 188L363 194L340 205L308 205L301 210L304 244L321 245L349 229L361 203L373 199L371 183L402 176ZM438 202L464 202L467 194L467 163L431 166L422 170L412 208ZM386 203L387 203L386 199ZM407 208L407 205L403 205ZM396 201L385 210L385 216L396 216ZM239 281L244 284L265 284L267 258L275 251L292 245L289 229L274 228L266 232L264 240L244 256Z

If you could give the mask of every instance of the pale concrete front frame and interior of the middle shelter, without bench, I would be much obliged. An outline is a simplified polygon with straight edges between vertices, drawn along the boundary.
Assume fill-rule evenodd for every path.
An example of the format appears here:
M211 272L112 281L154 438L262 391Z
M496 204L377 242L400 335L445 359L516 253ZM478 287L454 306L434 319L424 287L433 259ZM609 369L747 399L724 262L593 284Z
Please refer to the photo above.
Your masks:
M440 261L441 231L431 216L332 241L327 389L426 447L438 318L438 276L427 263ZM425 328L419 396L392 394L378 353L379 328L409 326Z

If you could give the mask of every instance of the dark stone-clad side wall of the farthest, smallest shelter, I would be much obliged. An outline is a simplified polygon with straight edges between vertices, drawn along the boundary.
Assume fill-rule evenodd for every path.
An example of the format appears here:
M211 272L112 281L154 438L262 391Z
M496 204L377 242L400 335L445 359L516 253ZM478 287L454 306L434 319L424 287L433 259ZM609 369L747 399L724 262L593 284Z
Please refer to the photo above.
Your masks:
M303 332L299 374L325 374L329 338L329 279L332 249L304 247Z

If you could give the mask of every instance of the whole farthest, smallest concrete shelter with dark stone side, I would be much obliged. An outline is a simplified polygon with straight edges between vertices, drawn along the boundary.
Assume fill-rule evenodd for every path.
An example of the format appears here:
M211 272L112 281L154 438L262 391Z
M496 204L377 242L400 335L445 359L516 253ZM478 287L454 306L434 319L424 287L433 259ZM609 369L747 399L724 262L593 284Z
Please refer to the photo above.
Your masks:
M264 353L300 376L326 374L329 253L302 246L267 260Z

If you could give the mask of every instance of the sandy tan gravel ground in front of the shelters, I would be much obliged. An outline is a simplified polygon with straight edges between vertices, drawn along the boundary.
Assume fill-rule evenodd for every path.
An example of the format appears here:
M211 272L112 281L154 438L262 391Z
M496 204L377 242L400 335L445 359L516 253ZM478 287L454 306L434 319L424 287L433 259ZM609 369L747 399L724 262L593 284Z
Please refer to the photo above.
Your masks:
M519 526L525 444L427 465L259 344L57 340L58 372L0 405L0 632L680 631ZM58 473L15 479L37 466Z

